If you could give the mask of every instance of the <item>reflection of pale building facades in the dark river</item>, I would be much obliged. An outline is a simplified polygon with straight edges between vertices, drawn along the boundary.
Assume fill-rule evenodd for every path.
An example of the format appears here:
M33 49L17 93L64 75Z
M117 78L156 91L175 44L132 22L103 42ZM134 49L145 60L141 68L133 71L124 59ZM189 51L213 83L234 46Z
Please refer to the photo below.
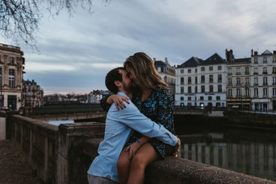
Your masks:
M226 133L179 137L181 158L276 181L275 143L226 139Z

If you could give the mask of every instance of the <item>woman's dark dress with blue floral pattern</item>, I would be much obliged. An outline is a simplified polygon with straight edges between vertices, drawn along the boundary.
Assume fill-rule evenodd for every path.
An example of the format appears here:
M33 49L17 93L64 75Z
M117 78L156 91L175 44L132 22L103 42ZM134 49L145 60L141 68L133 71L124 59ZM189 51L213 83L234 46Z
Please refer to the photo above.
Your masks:
M106 103L106 98L101 99L101 107L104 110L108 110L110 105ZM132 97L132 103L134 103L137 108L147 116L152 121L157 124L161 124L166 127L167 130L175 134L175 125L173 121L173 108L174 101L172 94L169 90L157 89L152 90L148 99L141 101L141 94L135 94ZM133 132L127 145L130 145L140 139L143 135L139 132ZM155 151L164 159L166 155L171 155L174 151L173 147L167 145L157 139L151 139L148 143L154 147Z

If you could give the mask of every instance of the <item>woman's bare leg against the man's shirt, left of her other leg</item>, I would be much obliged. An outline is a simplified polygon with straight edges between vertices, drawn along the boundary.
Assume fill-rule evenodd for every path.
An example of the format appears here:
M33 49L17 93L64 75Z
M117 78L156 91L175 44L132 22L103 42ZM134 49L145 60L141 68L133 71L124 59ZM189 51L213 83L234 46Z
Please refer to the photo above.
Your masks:
M129 152L125 152L126 147L121 151L119 159L117 161L118 178L120 184L126 184L128 182L128 175L130 171L130 159L128 159Z

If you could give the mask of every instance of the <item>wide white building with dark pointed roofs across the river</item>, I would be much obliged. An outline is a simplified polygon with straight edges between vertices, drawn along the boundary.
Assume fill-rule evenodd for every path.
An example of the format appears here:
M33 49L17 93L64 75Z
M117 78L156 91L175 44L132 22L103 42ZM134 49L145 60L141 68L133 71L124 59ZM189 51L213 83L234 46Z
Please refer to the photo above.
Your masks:
M177 65L175 105L226 107L226 61L215 53Z

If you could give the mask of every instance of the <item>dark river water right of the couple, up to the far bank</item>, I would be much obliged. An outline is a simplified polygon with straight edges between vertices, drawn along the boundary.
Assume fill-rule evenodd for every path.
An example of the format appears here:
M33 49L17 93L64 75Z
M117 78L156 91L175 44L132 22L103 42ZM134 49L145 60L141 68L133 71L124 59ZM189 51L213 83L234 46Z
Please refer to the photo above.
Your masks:
M272 131L189 125L177 128L181 158L276 181Z

